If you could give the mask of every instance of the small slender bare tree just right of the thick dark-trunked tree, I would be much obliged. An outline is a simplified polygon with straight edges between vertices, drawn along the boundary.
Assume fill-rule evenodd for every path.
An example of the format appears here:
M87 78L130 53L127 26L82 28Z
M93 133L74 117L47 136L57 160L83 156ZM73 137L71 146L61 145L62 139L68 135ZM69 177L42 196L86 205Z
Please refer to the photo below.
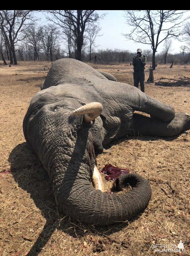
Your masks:
M86 36L86 39L88 40L89 42L89 61L91 60L91 52L93 50L93 46L95 46L95 39L97 36L102 36L102 35L99 35L99 32L102 28L99 27L98 24L90 24L87 29L86 29L86 33L87 33L87 36Z

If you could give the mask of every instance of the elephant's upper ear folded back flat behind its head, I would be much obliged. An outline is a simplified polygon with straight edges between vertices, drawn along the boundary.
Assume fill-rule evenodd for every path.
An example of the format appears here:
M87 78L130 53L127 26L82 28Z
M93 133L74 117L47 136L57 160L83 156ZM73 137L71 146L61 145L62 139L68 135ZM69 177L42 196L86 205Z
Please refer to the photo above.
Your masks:
M105 101L94 85L85 78L67 77L57 82L56 86L51 86L42 92L49 92L59 97L77 99L82 105L99 102L103 106L103 111L100 116L106 117Z

